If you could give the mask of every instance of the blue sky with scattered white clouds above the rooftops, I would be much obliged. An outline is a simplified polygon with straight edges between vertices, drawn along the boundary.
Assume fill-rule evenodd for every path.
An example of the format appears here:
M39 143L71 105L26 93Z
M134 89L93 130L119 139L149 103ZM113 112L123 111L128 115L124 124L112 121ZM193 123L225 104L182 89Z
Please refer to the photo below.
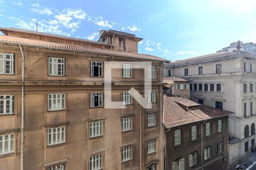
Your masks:
M0 0L0 27L98 40L100 29L143 38L139 53L171 61L214 53L230 42L256 42L254 0Z

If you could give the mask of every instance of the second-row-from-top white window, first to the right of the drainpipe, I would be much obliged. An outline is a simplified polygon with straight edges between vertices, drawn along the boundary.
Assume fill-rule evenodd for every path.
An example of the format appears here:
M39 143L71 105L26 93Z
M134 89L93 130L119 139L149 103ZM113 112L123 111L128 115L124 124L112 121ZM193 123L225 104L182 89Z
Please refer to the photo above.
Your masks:
M65 94L48 94L48 111L65 109Z

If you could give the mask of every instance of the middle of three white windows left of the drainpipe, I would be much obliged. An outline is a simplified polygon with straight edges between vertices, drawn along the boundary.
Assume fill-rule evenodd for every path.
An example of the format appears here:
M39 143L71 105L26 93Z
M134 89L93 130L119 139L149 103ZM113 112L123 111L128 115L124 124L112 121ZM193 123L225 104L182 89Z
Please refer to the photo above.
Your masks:
M0 115L14 114L14 95L0 96Z

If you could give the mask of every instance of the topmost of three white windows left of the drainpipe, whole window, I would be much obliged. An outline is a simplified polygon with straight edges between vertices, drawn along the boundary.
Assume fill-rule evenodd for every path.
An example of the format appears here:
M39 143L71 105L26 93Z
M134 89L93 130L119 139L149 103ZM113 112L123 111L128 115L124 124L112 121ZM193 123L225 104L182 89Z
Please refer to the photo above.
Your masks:
M14 74L14 54L0 53L0 74Z

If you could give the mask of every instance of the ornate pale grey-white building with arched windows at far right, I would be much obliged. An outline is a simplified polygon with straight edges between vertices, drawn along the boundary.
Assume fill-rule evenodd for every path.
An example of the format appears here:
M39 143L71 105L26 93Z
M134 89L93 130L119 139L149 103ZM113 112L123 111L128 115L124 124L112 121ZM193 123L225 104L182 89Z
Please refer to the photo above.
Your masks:
M191 81L191 100L234 112L229 116L229 163L254 150L256 123L256 55L215 53L164 66L164 76ZM215 125L214 125L215 126Z

